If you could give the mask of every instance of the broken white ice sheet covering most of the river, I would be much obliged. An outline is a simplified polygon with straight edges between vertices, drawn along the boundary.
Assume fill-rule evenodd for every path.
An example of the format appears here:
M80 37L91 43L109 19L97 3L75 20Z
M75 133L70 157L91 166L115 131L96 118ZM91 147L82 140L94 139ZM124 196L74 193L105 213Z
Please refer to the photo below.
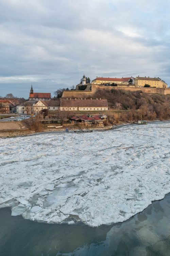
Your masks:
M0 139L0 207L48 223L129 219L170 192L170 123Z

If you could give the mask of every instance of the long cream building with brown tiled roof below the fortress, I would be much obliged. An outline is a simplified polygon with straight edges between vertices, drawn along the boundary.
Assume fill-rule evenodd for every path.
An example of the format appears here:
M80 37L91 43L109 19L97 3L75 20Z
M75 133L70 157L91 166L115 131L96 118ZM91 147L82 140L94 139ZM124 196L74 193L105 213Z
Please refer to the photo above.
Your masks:
M103 111L108 110L106 99L61 99L61 111Z

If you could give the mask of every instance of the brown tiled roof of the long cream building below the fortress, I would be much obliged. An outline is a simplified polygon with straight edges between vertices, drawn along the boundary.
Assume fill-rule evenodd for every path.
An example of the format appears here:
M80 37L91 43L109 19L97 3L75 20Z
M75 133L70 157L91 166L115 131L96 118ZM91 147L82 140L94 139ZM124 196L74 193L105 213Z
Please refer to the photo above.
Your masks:
M108 107L106 99L61 99L60 107Z

